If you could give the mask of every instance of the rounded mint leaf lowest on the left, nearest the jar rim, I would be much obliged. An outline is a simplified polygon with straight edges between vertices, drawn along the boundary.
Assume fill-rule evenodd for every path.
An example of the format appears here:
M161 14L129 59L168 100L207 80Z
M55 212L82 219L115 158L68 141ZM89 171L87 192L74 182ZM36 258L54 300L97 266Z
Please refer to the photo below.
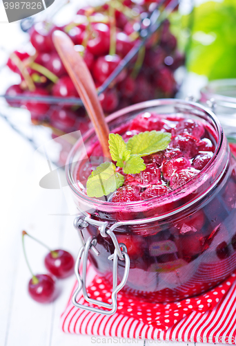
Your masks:
M114 192L124 183L124 176L115 172L115 165L104 162L88 177L88 197L102 197Z

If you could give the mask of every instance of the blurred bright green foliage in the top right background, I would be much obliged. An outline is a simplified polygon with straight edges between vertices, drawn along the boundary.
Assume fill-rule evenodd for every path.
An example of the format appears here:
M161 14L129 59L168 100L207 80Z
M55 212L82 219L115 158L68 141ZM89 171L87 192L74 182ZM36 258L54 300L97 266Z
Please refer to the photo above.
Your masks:
M182 23L190 16L183 16ZM209 80L236 78L236 1L207 1L195 7L188 70Z

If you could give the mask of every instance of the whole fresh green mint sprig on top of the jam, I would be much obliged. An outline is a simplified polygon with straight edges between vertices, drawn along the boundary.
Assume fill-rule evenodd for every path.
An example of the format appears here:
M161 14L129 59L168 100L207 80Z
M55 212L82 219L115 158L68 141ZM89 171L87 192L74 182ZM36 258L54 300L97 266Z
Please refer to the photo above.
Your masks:
M171 134L161 131L146 131L132 136L128 143L119 134L109 134L109 149L117 167L125 174L137 174L146 169L141 156L147 156L166 149ZM88 177L87 194L89 197L107 196L122 186L124 176L116 172L114 163L101 163Z

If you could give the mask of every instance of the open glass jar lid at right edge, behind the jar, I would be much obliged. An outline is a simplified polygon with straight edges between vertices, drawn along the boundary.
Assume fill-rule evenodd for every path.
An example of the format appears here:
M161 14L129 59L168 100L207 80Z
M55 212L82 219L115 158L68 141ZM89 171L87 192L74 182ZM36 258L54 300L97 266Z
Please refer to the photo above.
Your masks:
M213 80L201 89L202 103L211 107L230 142L236 140L236 79Z

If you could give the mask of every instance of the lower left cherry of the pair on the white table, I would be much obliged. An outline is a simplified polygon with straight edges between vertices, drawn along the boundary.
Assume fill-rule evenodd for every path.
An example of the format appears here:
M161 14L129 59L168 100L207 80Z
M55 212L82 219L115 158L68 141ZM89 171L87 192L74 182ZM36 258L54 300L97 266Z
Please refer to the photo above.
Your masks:
M37 302L52 302L55 298L55 281L50 275L37 274L28 283L28 292Z

